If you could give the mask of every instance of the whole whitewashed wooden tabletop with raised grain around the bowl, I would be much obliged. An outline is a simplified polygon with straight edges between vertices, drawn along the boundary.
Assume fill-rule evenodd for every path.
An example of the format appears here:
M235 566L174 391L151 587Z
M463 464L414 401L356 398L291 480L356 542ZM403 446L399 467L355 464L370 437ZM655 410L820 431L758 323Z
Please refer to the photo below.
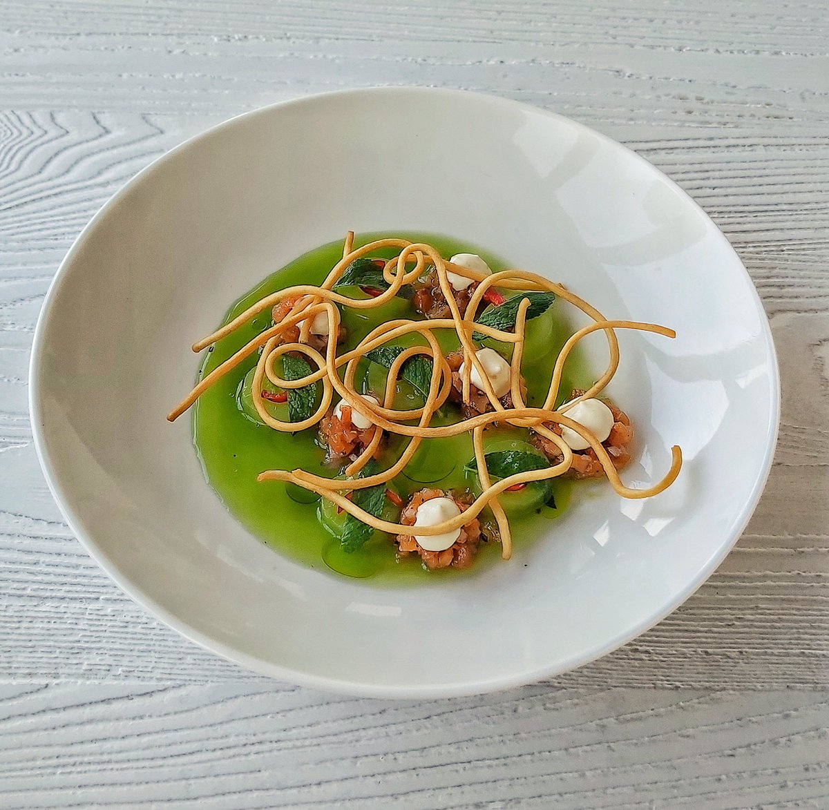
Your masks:
M825 0L0 0L0 806L829 807ZM783 426L710 581L555 682L332 697L145 615L66 528L27 363L87 219L184 137L279 99L435 84L554 109L678 181L771 318Z

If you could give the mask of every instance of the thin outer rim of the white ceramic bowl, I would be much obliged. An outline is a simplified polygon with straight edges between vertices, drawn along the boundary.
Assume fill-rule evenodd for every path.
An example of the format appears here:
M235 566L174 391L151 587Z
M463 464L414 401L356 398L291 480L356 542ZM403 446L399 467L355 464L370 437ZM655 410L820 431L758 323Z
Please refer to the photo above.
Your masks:
M733 254L734 258L737 259L739 268L744 274L744 279L749 282L749 295L753 296L754 306L757 308L760 321L763 325L765 349L767 350L768 358L771 361L768 380L770 386L770 424L767 433L767 446L764 451L762 464L755 477L754 485L749 493L749 498L746 500L739 514L736 518L734 518L730 528L725 531L724 540L720 544L718 550L709 558L705 565L697 571L696 576L693 576L691 580L686 583L686 586L684 586L681 591L677 591L670 600L667 600L667 602L662 605L660 610L657 610L656 613L649 616L647 619L642 620L632 627L629 627L622 633L618 633L612 639L608 639L608 641L604 644L596 644L593 648L589 648L577 654L574 653L569 658L565 658L564 660L560 660L550 665L537 667L532 670L524 670L520 673L511 673L505 676L481 678L465 682L433 684L429 686L391 686L317 675L313 672L284 667L276 663L269 663L248 653L241 653L239 650L232 648L227 644L216 641L216 639L213 639L210 635L202 633L200 630L192 627L186 620L182 620L176 614L172 613L172 611L167 610L167 608L160 605L158 601L154 600L151 596L145 593L141 586L138 586L131 581L128 576L123 575L119 571L118 566L114 562L111 562L104 550L99 547L98 543L95 541L95 538L93 538L89 533L86 533L83 528L83 520L80 518L80 514L75 512L70 498L67 497L65 489L61 485L61 481L58 480L58 475L53 472L51 454L49 451L49 441L46 438L46 431L42 421L41 365L45 350L44 333L46 332L46 324L50 321L51 313L55 307L55 302L59 296L61 287L67 281L67 278L70 275L70 268L75 263L76 254L80 252L87 240L90 239L90 235L93 234L95 229L98 228L99 224L112 210L120 205L121 201L134 185L142 181L145 176L148 176L153 171L156 171L158 167L164 166L165 163L174 160L180 152L186 151L202 138L212 136L214 133L225 129L234 128L239 123L246 121L247 119L270 115L274 113L274 111L281 108L298 108L306 105L319 104L321 102L324 104L327 99L334 97L382 94L406 94L412 97L423 97L428 95L433 98L435 96L442 95L447 98L477 100L479 103L491 104L495 110L507 108L511 110L522 109L528 113L540 114L548 118L555 118L557 120L565 121L568 125L573 126L582 132L590 133L592 137L598 137L601 142L627 152L628 156L633 156L639 164L646 167L647 171L656 172L657 176L659 176L662 181L666 182L672 190L679 194L681 199L684 200L686 204L691 205L697 212L704 215L705 219L707 219L710 224L714 226L716 238L720 240L720 244L723 248L725 248L725 251L730 252ZM200 133L196 133L195 135L188 137L185 141L177 144L175 147L172 147L172 149L167 152L164 152L147 166L144 166L143 169L138 171L135 175L130 177L129 180L124 183L124 186L121 186L119 190L114 193L114 195L109 197L109 199L104 202L104 205L100 207L100 209L80 231L80 234L78 234L75 241L65 254L65 257L61 261L55 276L49 284L46 296L44 297L44 301L41 306L41 311L37 317L35 332L32 339L32 353L29 361L28 405L32 425L32 437L37 458L40 462L41 469L43 470L43 475L46 478L46 484L48 485L58 508L61 510L61 513L65 518L65 522L69 526L71 532L75 535L75 538L80 541L86 552L95 560L95 562L97 562L99 567L104 570L104 572L115 582L117 586L119 586L122 591L124 591L126 595L128 595L130 599L140 605L144 610L148 611L149 614L155 616L158 620L161 620L163 624L166 624L171 629L176 630L177 633L181 634L186 639L189 639L191 642L198 644L200 647L206 648L212 653L216 653L233 663L252 670L255 673L274 677L284 682L295 683L299 686L311 687L324 692L337 692L339 694L353 695L356 697L429 699L440 697L463 697L488 692L498 692L513 687L524 686L528 683L538 682L545 678L555 677L562 673L569 672L571 669L579 668L584 666L586 663L591 663L608 653L612 653L624 644L628 644L629 641L637 638L642 633L647 632L647 630L654 627L667 615L676 610L676 608L678 608L695 591L697 591L697 589L702 586L702 584L710 577L715 569L720 566L720 563L725 559L730 550L734 547L734 544L737 542L740 535L743 533L744 528L749 523L749 519L754 513L754 509L756 509L757 504L759 503L760 496L763 493L765 485L768 481L768 476L771 472L774 451L778 441L781 392L778 357L774 347L771 325L769 324L768 316L764 311L762 300L759 297L759 292L757 292L757 288L754 286L754 282L751 279L748 270L745 268L742 259L739 258L739 254L736 253L720 227L714 222L713 219L710 218L709 215L705 213L705 210L702 209L701 205L699 205L696 200L694 200L685 190L678 186L675 181L672 181L670 177L657 168L657 166L653 166L651 162L648 162L644 157L639 155L637 152L634 152L632 149L624 146L624 144L613 140L613 138L604 135L604 133L600 133L599 131L588 127L586 124L574 121L574 119L568 118L560 113L536 107L532 104L526 104L513 99L503 98L502 96L494 94L479 93L463 89L437 88L418 85L385 85L309 94L298 98L285 99L283 101L275 102L274 104L267 104L264 107L240 113L239 115L235 115L232 118L228 118L227 120L216 124L216 126L207 128Z

